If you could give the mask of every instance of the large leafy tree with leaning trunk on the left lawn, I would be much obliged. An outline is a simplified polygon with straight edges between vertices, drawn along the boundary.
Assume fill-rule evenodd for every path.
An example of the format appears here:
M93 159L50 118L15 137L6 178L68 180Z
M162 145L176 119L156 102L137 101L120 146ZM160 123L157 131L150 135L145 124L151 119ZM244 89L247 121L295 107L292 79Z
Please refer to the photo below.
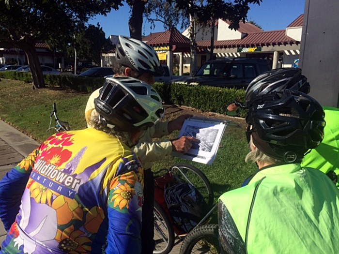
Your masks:
M74 34L93 15L118 9L122 0L0 0L0 47L25 51L31 68L33 88L44 87L35 43L72 42ZM62 43L58 43L62 41Z

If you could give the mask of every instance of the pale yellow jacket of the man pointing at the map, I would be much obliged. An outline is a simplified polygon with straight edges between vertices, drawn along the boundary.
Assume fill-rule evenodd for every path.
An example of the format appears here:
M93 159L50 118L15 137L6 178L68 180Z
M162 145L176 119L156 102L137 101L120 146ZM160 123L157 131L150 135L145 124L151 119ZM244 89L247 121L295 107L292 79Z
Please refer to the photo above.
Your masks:
M85 118L88 128L92 128L89 120L94 109L94 99L99 96L100 89L93 91L87 101ZM166 155L170 155L172 152L170 140L153 141L154 137L162 137L168 134L168 122L157 122L151 128L147 128L145 134L140 137L139 143L132 148L144 169L151 168L155 161L163 160Z

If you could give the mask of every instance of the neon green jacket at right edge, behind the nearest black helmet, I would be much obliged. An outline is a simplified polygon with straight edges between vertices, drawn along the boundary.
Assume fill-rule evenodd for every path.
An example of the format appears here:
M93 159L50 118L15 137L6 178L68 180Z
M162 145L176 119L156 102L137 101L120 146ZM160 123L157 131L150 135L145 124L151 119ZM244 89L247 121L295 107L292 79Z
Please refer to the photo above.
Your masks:
M319 168L325 174L332 170L339 176L339 108L324 107L324 112L323 142L304 156L301 165Z

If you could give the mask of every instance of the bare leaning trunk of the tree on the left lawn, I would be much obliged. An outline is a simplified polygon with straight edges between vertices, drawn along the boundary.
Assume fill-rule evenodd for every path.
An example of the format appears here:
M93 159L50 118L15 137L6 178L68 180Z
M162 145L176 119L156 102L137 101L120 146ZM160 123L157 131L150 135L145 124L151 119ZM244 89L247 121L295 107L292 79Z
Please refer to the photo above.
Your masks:
M30 65L33 80L32 82L33 89L44 88L45 87L44 75L41 70L39 58L36 53L35 47L31 45L26 45L25 47L23 47L23 50L26 53L28 64Z

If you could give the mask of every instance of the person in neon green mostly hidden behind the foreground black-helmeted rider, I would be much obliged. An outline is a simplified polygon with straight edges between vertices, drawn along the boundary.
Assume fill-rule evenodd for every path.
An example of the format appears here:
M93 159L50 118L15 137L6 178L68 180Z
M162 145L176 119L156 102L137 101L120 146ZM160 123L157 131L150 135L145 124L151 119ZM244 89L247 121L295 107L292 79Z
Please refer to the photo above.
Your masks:
M286 89L309 92L310 85L306 76L301 75L301 69L280 68L256 77L247 87L246 106L250 107L257 96ZM301 165L324 172L339 188L339 109L324 107L324 112L324 139L318 147L305 154Z

